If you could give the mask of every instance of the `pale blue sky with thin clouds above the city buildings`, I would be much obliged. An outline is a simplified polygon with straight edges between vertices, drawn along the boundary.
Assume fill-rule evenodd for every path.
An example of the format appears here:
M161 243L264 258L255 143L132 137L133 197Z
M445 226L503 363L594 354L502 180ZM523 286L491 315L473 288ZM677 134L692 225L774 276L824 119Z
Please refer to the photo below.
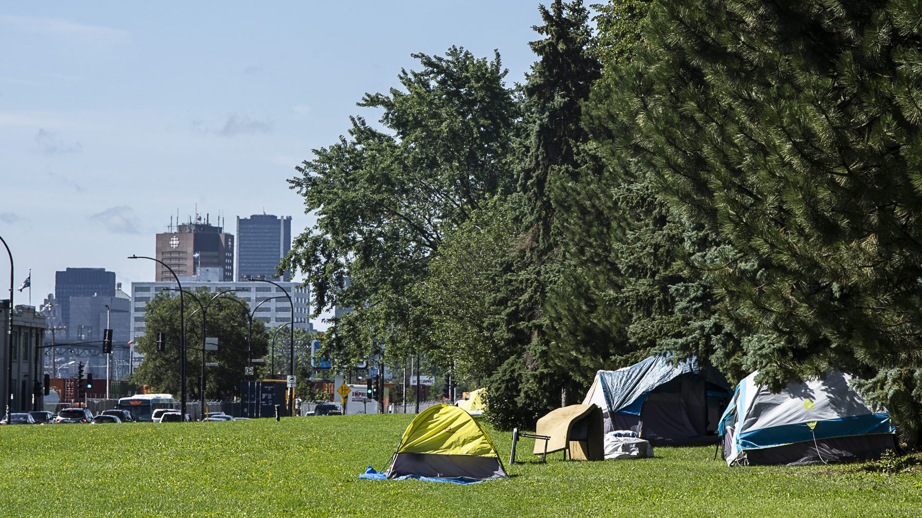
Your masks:
M377 118L355 106L365 92L451 45L498 49L523 82L539 21L522 0L0 7L0 236L16 284L31 268L37 305L67 266L152 280L125 257L152 255L177 209L231 232L265 210L300 232L313 221L285 180L349 115Z

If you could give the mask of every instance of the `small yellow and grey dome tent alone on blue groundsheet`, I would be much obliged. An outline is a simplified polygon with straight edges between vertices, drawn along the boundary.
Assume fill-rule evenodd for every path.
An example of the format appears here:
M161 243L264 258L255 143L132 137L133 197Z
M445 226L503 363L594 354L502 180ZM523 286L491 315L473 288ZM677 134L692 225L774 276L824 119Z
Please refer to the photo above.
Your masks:
M504 478L500 454L483 427L453 405L431 406L413 419L397 445L388 478Z

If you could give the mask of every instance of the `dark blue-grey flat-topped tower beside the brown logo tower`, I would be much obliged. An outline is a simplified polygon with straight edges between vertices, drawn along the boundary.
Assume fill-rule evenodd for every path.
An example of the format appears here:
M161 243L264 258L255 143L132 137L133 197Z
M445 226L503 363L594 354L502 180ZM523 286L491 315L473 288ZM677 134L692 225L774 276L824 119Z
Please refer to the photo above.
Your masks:
M254 214L237 218L237 280L276 275L278 262L291 250L291 217ZM290 275L284 277L286 280Z

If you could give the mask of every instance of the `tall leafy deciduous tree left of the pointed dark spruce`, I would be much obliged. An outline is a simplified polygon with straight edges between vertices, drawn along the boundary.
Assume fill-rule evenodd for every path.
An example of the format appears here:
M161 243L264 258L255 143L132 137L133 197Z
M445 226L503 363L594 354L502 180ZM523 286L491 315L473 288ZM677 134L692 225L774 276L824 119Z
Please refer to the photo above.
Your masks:
M402 71L401 88L359 103L383 111L381 127L353 118L348 137L314 149L290 180L317 219L279 271L305 274L315 316L354 308L326 338L340 365L365 358L372 344L395 356L438 346L417 289L431 257L446 231L513 189L517 110L499 54L479 59L453 47L413 57L421 68Z

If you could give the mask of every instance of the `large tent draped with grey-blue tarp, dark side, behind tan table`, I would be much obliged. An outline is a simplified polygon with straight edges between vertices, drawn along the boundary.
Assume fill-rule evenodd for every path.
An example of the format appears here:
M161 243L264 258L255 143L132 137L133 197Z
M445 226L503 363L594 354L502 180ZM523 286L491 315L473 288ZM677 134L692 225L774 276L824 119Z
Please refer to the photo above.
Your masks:
M602 408L606 433L632 430L654 446L709 444L719 441L717 426L731 396L715 368L656 356L598 371L583 404Z

